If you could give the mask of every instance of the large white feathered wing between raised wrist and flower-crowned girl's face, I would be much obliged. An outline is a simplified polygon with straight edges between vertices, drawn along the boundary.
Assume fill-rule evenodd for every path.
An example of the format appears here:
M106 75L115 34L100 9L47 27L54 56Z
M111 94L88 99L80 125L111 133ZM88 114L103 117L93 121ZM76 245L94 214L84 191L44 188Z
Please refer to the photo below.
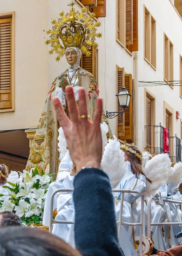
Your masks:
M126 171L125 153L120 150L120 143L114 136L109 140L101 162L102 168L111 179L113 189L121 182Z

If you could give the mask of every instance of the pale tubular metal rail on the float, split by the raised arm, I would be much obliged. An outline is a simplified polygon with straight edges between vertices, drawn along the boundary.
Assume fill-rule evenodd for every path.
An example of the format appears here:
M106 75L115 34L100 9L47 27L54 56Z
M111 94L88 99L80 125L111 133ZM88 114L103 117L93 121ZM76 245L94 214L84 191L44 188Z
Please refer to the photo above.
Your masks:
M74 221L59 221L59 220L54 220L53 219L53 202L54 202L54 196L58 192L73 192L74 189L57 189L54 191L51 195L51 202L50 202L50 212L49 212L49 233L52 233L52 224L74 224ZM142 232L143 232L143 213L144 213L144 196L135 190L125 190L125 189L113 189L113 193L121 193L121 204L120 204L120 210L119 210L119 221L117 221L118 225L118 239L120 239L120 230L121 230L121 225L128 225L128 226L140 226L139 230L139 254L142 254ZM133 194L138 194L141 196L141 214L140 214L140 223L128 223L122 221L122 211L123 211L123 203L124 203L124 195L125 193L133 193Z

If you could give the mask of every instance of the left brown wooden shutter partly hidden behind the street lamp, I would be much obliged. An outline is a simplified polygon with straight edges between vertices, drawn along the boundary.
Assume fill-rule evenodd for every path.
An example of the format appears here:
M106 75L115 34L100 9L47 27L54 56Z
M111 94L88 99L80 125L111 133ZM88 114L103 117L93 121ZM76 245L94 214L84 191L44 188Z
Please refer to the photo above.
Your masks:
M125 86L125 70L124 68L117 67L117 93ZM117 111L122 111L123 108L117 103ZM125 119L124 115L117 117L117 137L121 140L121 137L125 135Z

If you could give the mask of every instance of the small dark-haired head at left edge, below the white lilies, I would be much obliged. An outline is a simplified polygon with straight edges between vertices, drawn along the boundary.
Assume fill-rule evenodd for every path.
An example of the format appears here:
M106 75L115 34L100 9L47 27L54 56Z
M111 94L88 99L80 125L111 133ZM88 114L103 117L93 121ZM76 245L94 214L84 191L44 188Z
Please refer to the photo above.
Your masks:
M18 215L13 212L0 212L0 227L22 226L22 221Z

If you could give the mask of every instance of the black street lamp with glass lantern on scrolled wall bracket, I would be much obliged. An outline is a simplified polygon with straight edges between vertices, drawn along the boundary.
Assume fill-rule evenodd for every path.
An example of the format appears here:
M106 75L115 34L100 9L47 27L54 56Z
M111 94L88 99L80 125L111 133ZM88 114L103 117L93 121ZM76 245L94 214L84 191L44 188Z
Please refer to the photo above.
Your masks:
M122 87L122 89L120 90L120 92L118 94L116 94L116 96L119 101L119 106L121 106L123 108L123 111L117 111L117 112L106 111L106 117L109 119L112 119L112 118L118 116L119 114L123 115L123 113L125 113L125 108L129 107L130 98L132 97L132 95L130 93L128 93L128 91L126 90L125 87Z

